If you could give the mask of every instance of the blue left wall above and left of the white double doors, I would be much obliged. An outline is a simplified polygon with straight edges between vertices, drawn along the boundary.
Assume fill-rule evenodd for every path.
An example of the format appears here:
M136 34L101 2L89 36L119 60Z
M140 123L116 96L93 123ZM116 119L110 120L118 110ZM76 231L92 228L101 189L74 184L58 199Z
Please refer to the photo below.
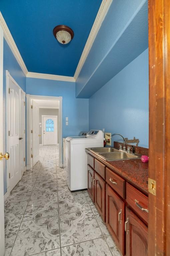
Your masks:
M6 113L6 70L15 79L18 85L26 91L26 77L15 59L11 49L9 48L6 40L4 39L4 52L3 52L3 113ZM3 134L6 134L6 120L4 115ZM6 137L3 140L4 152L6 151ZM6 163L4 162L4 194L7 192L7 175Z

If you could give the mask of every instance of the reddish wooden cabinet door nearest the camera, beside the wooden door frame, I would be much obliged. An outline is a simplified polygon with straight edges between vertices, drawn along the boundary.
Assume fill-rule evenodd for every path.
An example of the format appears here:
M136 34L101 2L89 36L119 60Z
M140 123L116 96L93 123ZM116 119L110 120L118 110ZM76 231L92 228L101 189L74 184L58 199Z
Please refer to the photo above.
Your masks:
M126 207L126 256L147 256L148 228Z

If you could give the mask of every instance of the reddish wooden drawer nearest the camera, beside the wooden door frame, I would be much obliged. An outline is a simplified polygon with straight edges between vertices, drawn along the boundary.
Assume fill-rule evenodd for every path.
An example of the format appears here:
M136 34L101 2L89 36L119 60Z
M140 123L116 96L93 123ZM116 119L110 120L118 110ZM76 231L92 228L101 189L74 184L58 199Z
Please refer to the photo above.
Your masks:
M148 197L129 183L126 184L126 201L139 216L148 222Z

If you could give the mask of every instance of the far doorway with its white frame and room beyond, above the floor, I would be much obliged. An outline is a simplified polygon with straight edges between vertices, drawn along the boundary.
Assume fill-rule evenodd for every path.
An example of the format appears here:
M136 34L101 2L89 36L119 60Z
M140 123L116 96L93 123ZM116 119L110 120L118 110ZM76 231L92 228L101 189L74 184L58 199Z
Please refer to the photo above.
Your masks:
M39 147L59 146L59 167L62 159L62 97L26 95L27 170L39 160Z

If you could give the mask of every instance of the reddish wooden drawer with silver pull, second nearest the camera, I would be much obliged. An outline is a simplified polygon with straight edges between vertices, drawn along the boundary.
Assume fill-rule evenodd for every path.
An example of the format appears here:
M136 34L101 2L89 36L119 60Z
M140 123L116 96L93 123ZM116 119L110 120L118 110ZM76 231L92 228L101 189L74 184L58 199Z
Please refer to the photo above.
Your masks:
M106 182L123 198L125 198L125 180L106 168Z

